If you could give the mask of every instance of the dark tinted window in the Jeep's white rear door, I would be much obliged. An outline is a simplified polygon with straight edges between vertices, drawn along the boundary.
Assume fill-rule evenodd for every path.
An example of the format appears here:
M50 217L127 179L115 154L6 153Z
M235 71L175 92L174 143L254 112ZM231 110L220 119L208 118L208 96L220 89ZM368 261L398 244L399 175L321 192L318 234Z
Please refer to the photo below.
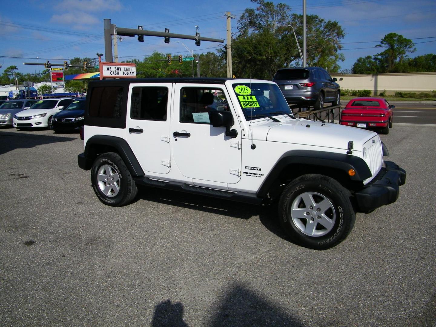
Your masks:
M168 89L163 87L134 87L130 118L167 120Z

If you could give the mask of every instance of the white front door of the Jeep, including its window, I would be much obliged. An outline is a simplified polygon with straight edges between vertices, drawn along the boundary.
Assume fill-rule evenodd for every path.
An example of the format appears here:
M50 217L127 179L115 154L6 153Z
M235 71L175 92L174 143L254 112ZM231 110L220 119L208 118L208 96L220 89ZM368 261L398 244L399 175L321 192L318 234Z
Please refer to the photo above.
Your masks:
M226 106L213 103L214 94L226 100ZM224 85L176 84L171 144L174 163L194 184L201 181L235 184L241 175L242 133ZM225 127L213 127L211 110L233 113L238 135L225 136Z

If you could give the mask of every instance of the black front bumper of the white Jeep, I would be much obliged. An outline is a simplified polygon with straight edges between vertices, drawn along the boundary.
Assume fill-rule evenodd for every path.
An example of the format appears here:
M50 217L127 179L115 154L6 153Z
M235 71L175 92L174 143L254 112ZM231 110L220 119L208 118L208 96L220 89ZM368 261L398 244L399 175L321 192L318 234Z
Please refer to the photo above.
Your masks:
M398 199L400 186L406 181L406 172L392 161L385 161L377 177L354 194L358 212L370 212Z

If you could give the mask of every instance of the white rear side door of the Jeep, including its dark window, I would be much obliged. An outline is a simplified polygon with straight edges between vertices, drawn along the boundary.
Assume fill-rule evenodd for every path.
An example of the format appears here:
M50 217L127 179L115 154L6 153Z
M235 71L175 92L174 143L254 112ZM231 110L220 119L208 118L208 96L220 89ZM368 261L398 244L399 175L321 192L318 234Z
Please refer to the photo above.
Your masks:
M126 140L146 174L170 171L172 88L171 83L129 86Z

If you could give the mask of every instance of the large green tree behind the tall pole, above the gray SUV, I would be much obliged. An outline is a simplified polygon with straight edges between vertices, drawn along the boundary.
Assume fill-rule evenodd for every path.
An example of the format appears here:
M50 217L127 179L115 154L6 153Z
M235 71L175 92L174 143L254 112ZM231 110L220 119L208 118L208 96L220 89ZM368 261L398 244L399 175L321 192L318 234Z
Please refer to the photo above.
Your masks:
M303 17L291 14L291 8L283 3L251 0L259 6L244 11L238 21L238 32L232 41L233 72L237 77L271 79L283 67L301 63L293 35L303 34ZM320 65L330 72L339 69L337 61L344 60L339 54L339 40L344 37L342 27L336 21L325 21L317 15L307 16L307 64ZM301 40L299 40L300 46ZM218 51L224 56L224 51ZM250 74L251 68L251 74Z

